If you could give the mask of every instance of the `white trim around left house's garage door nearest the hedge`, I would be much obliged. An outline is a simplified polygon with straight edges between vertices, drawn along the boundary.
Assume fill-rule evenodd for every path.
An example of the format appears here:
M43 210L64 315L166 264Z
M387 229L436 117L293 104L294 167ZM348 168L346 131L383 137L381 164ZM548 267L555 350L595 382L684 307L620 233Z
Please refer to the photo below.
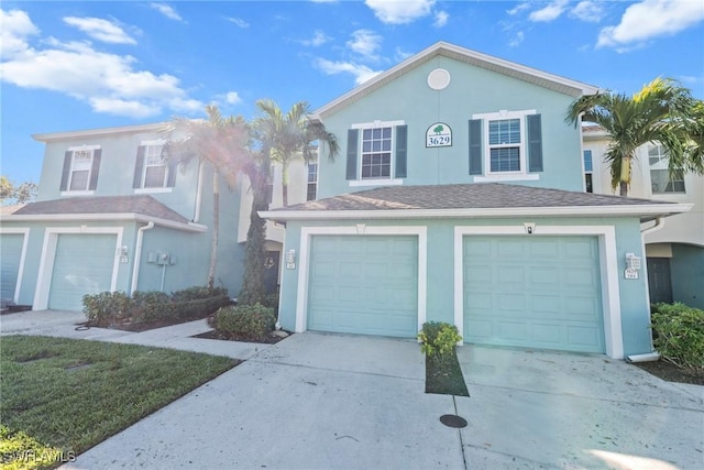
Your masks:
M42 245L42 259L40 261L40 273L36 280L36 292L34 294L34 309L43 310L48 307L48 294L52 286L52 274L54 272L54 261L56 259L56 243L62 233L73 234L114 234L114 261L112 263L112 275L110 278L110 292L114 292L118 286L118 270L120 259L118 248L122 247L122 227L47 227L44 232L44 244Z

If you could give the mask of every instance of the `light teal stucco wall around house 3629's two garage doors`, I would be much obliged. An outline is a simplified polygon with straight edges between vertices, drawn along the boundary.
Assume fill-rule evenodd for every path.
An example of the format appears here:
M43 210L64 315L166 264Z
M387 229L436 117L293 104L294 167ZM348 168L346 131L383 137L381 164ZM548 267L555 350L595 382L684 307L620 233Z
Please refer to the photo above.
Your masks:
M443 220L344 220L344 221L289 221L286 229L284 251L300 253L301 227L354 227L356 223L372 226L425 226L428 236L427 319L454 323L454 227L455 226L519 226L532 221L538 226L613 226L616 233L618 289L623 342L626 354L651 351L649 308L647 303L647 280L626 280L625 254L642 256L639 221L636 218L540 218L528 219L443 219ZM298 266L295 270L283 266L279 323L285 329L295 329Z

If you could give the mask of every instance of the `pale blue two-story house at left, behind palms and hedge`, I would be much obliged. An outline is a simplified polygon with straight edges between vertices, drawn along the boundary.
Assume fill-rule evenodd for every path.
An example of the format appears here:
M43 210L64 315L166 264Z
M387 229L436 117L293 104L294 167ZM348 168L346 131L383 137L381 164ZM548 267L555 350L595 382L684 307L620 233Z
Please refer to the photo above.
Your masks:
M155 123L33 135L46 144L36 201L0 218L6 303L80 310L85 294L168 293L207 283L213 172L207 162L163 160L163 129ZM292 166L299 178L307 170L302 161ZM220 185L216 285L233 297L250 223L244 179L232 192ZM277 168L273 187L277 207ZM292 189L292 201L306 197L305 188ZM271 291L278 284L277 230L272 223L267 240Z

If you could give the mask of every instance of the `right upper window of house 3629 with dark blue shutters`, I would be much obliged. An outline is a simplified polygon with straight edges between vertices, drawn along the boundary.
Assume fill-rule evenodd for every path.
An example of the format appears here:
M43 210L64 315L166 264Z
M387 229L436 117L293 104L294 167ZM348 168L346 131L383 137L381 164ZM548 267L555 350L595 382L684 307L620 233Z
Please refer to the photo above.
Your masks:
M538 179L542 172L540 114L536 110L473 114L470 174L475 182Z

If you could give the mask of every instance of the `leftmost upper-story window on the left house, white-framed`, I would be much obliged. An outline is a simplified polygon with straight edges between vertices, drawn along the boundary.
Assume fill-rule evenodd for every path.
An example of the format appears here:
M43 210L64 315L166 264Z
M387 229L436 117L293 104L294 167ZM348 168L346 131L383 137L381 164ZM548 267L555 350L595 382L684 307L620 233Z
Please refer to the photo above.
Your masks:
M92 194L98 186L101 149L98 145L70 147L64 155L59 189L63 195Z

